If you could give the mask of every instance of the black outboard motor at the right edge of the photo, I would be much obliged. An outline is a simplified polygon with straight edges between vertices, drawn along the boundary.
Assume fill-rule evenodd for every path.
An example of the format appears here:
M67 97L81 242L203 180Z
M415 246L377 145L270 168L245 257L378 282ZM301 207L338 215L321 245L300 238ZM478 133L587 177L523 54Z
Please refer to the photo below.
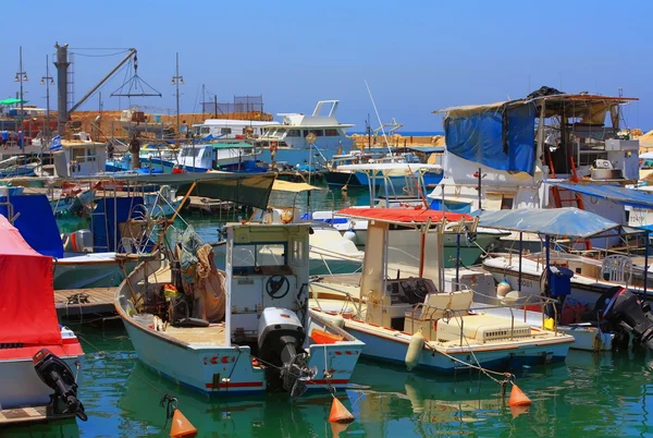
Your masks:
M625 288L615 287L605 292L594 307L600 318L614 331L625 331L642 345L653 350L653 315L648 303ZM605 329L605 327L604 327Z

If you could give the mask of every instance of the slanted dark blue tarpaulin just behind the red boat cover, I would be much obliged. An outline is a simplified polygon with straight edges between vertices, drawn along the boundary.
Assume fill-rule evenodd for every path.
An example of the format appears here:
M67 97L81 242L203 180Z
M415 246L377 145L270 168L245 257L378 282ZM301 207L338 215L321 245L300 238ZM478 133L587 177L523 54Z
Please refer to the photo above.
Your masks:
M63 257L63 243L52 207L46 195L10 196L12 212L16 219L13 226L19 229L25 242L42 255ZM7 196L0 197L0 215L9 218Z

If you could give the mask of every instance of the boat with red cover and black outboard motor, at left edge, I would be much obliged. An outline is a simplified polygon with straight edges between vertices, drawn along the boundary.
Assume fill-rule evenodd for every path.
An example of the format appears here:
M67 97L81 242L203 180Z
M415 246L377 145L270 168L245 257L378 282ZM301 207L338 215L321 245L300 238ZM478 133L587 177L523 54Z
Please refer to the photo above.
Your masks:
M0 279L0 409L44 406L59 399L63 407L54 406L56 414L81 409L83 417L76 393L84 352L57 319L52 257L34 251L1 215Z

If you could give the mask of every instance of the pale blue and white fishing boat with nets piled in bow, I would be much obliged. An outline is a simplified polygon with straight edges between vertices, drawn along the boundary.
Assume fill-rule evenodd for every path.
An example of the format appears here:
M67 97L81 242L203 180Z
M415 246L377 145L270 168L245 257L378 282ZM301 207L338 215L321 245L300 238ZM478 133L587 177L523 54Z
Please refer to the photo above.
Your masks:
M210 396L286 391L295 398L347 385L364 343L309 315L309 224L229 226L222 272L210 246L188 252L199 246L189 228L178 263L197 273L181 281L159 254L143 261L115 297L139 360ZM261 258L276 247L284 248L279 258ZM242 261L249 256L254 263Z

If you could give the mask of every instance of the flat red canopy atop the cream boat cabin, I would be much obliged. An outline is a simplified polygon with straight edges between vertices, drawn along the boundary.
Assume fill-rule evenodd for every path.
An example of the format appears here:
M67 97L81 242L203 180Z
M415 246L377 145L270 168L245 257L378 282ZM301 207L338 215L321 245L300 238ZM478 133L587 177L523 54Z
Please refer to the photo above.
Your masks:
M439 222L442 218L454 222L460 219L471 220L469 215L460 215L457 212L442 212L440 210L428 210L423 208L343 208L338 215L353 216L361 219L381 220L393 223L426 223L429 219L431 222Z

